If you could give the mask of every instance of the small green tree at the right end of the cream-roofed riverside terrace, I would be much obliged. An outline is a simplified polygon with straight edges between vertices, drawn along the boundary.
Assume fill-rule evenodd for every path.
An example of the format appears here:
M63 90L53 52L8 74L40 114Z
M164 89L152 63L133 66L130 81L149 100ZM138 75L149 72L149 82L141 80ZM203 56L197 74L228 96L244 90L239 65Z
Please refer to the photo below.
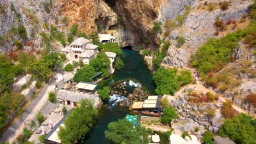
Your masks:
M170 124L173 119L179 117L172 105L168 105L167 107L165 107L163 113L164 115L160 119L161 123L164 124Z

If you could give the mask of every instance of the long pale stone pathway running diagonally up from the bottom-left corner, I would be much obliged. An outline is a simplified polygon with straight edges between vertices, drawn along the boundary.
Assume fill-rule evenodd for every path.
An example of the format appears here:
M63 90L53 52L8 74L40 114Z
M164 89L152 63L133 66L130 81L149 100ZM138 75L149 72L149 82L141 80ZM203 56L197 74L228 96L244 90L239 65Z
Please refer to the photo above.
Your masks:
M55 74L53 75L55 77ZM52 77L52 78L53 78ZM45 85L42 91L38 94L37 98L31 103L31 105L24 111L21 118L18 119L11 127L4 131L1 141L8 141L9 143L16 140L22 130L25 127L29 127L31 121L36 118L38 111L41 111L43 115L50 113L54 109L56 104L50 103L48 100L48 92L54 91L55 82L50 79L50 81Z

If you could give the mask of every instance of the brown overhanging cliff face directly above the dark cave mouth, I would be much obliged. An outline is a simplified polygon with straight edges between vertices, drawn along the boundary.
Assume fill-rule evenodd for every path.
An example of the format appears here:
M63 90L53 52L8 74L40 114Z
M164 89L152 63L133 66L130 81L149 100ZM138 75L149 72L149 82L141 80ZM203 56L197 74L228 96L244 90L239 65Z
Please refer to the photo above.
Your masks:
M159 0L117 0L116 7L129 29L126 44L136 45L144 43L142 40L149 40L151 45L157 45L152 27L159 16Z

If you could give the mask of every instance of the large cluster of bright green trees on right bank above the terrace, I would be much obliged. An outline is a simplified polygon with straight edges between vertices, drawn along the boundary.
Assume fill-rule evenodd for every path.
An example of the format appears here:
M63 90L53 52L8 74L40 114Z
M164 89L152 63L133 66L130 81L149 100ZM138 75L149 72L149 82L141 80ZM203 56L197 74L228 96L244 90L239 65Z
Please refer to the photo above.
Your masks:
M153 80L156 85L155 92L158 94L173 95L181 86L187 85L193 81L190 71L183 70L179 75L177 72L177 68L159 68L153 75Z

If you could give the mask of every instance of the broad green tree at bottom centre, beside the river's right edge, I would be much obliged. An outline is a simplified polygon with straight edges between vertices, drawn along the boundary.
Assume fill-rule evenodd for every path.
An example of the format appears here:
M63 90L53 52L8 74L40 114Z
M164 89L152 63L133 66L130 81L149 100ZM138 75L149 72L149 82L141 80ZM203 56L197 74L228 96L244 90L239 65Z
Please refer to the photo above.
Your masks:
M133 125L125 119L119 119L118 122L108 124L108 129L105 131L107 139L114 143L149 143L149 133L141 125Z

